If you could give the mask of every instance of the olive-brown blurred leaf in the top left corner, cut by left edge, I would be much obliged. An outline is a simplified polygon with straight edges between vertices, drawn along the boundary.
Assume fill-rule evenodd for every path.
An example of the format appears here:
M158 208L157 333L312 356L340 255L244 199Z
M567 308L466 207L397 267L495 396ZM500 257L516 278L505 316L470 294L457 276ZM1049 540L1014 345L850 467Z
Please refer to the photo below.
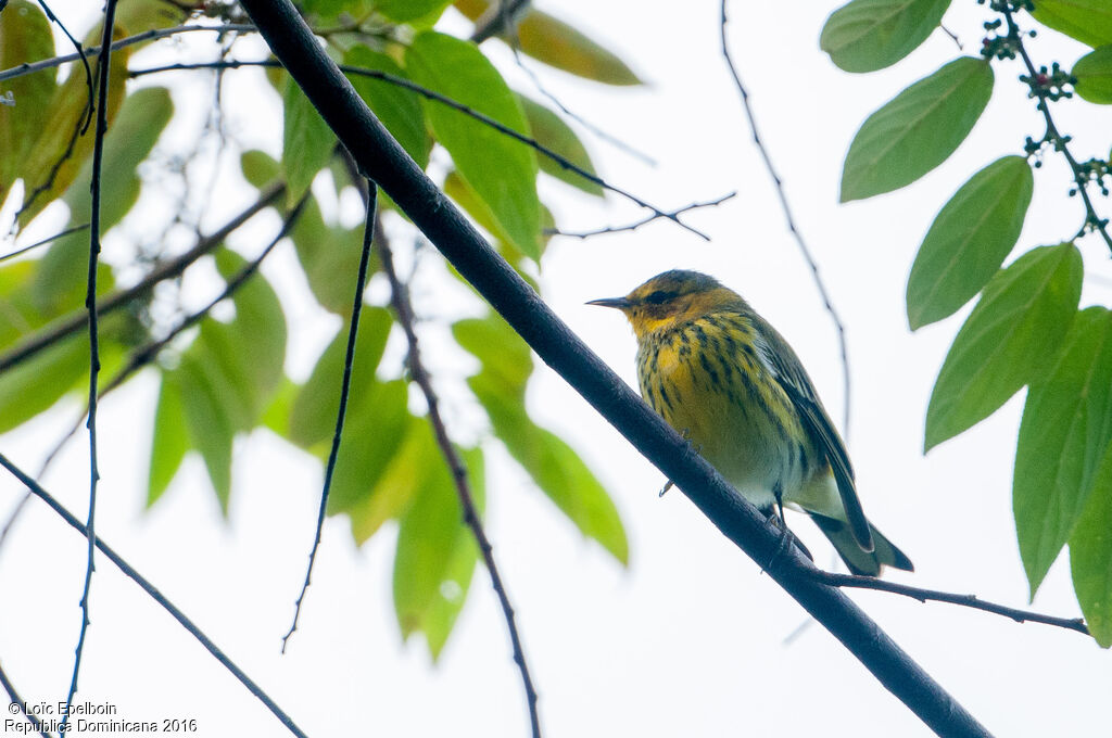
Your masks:
M54 56L54 37L50 21L30 0L11 0L0 13L0 69L49 59ZM0 82L0 93L10 94L14 106L0 104L0 205L3 205L12 182L31 146L48 126L48 106L58 87L54 69L44 69Z

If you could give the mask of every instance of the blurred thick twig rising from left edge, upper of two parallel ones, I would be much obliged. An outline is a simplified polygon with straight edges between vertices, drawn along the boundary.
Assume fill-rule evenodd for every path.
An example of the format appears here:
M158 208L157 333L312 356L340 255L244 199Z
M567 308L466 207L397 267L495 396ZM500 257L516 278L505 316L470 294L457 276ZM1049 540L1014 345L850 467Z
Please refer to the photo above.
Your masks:
M282 195L285 195L285 192L286 186L284 183L279 182L271 184L265 189L259 195L259 199L251 203L246 210L232 218L221 228L214 231L210 236L200 239L193 248L156 268L135 286L100 300L97 307L97 315L103 316L108 312L118 310L119 308L130 303L136 298L146 295L151 288L155 287L155 285L163 280L178 277L195 261L220 246L224 240L228 238L229 233L237 230L252 217L276 202ZM62 339L68 338L86 326L87 320L88 317L85 311L75 312L68 318L56 321L51 327L33 335L29 340L24 341L20 346L0 355L0 373L18 363L21 363L22 361L26 361L27 359L30 359L43 349L58 343Z

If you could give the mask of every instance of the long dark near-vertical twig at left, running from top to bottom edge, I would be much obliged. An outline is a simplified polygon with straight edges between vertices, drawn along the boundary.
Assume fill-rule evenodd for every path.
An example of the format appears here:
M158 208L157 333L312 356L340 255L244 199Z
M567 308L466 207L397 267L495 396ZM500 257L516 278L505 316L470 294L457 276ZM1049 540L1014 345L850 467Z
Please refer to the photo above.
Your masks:
M116 1L105 2L105 34L101 44L108 47L112 42L112 28L116 24ZM62 725L59 734L64 735L69 724L70 705L77 692L77 679L81 671L81 656L85 652L85 638L89 632L89 591L92 588L92 572L96 567L97 554L97 482L100 481L100 468L97 463L97 382L100 377L100 332L97 325L97 265L100 261L100 172L105 161L105 134L108 132L108 79L112 67L111 49L98 60L97 88L97 129L92 143L92 211L89 220L89 273L85 307L89 313L89 517L86 528L89 531L86 551L85 587L81 591L81 630L77 639L73 657L73 676L70 679L69 694L66 695L66 710L62 712Z

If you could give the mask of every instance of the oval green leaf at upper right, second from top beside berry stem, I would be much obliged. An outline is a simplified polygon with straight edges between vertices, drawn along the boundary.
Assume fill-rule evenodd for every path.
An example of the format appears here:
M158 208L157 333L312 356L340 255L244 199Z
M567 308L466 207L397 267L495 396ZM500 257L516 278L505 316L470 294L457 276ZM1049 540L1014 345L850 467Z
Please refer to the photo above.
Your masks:
M841 201L900 189L945 161L989 104L992 82L987 61L962 57L870 116L845 154Z

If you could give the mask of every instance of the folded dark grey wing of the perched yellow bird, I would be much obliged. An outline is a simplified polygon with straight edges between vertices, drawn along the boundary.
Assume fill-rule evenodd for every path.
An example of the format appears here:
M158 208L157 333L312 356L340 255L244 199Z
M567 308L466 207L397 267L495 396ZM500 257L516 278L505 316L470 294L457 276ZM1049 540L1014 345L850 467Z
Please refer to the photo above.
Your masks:
M815 393L814 385L806 369L787 341L759 316L754 316L756 330L757 355L772 376L784 388L800 412L800 418L812 437L818 442L830 461L837 482L837 491L842 497L846 520L853 537L866 551L873 550L873 536L868 528L865 511L857 498L857 487L854 483L853 466L845 450L842 437L831 421L826 409Z

